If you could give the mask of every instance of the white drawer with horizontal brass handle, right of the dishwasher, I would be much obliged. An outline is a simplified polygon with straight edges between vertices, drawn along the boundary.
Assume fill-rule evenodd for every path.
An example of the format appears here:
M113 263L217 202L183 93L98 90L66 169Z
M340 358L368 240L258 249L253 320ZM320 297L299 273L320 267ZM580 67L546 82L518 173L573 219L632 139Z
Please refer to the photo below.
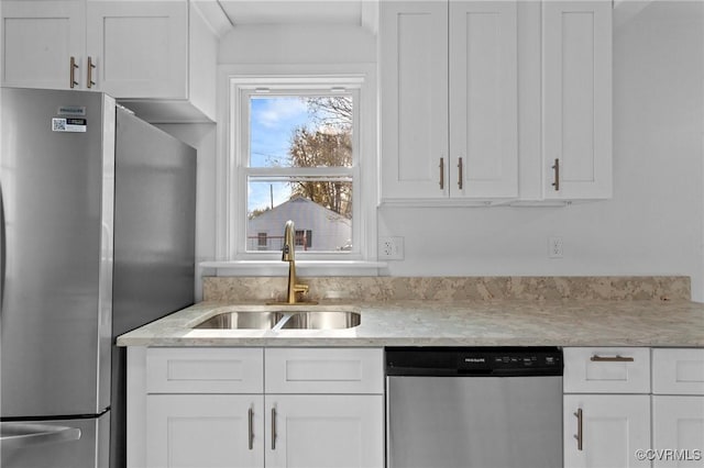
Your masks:
M564 348L565 393L650 393L649 348Z

